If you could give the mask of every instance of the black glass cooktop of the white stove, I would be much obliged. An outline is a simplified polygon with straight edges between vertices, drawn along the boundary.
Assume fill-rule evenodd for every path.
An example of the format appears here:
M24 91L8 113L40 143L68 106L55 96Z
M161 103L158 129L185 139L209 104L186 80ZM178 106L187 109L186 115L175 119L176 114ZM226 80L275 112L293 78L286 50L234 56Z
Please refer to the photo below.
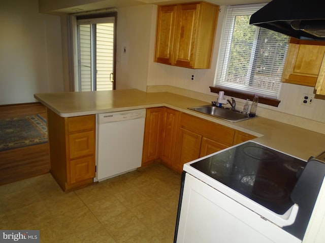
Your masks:
M291 206L290 193L306 162L247 142L190 164L277 214Z

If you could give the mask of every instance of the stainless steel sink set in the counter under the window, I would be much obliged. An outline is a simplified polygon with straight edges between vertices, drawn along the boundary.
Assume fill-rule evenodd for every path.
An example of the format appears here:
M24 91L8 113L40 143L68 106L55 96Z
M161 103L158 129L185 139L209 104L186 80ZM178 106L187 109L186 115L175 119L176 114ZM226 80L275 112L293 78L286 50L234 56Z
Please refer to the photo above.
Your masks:
M237 123L238 121L249 119L247 114L241 113L239 110L232 110L226 107L218 107L214 105L203 105L196 107L189 107L190 110L195 110L203 114L211 115L220 119Z

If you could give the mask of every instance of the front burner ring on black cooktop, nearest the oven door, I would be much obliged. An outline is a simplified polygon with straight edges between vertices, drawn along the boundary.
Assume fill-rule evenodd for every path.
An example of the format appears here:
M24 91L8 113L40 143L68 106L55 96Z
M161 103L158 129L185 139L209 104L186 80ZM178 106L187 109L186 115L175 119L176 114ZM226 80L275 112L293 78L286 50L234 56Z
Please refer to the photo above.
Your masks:
M244 191L265 200L282 201L289 196L284 188L266 177L246 175L240 179L240 183Z

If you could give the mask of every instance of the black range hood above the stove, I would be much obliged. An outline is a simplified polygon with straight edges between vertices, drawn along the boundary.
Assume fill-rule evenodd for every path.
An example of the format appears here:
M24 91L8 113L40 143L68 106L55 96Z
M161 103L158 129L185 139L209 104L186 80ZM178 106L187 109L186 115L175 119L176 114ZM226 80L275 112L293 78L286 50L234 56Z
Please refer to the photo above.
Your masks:
M325 41L325 0L273 0L249 24L298 39Z

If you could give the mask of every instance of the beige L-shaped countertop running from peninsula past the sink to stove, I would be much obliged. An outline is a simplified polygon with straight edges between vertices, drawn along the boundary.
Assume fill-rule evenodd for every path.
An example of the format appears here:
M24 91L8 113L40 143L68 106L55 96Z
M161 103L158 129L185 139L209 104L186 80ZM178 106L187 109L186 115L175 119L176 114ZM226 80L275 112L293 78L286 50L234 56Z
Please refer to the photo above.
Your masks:
M325 135L280 123L264 117L230 123L187 109L208 105L168 92L146 93L139 90L41 93L34 97L61 117L166 106L256 136L256 142L307 160L325 150ZM258 112L257 112L258 113Z

